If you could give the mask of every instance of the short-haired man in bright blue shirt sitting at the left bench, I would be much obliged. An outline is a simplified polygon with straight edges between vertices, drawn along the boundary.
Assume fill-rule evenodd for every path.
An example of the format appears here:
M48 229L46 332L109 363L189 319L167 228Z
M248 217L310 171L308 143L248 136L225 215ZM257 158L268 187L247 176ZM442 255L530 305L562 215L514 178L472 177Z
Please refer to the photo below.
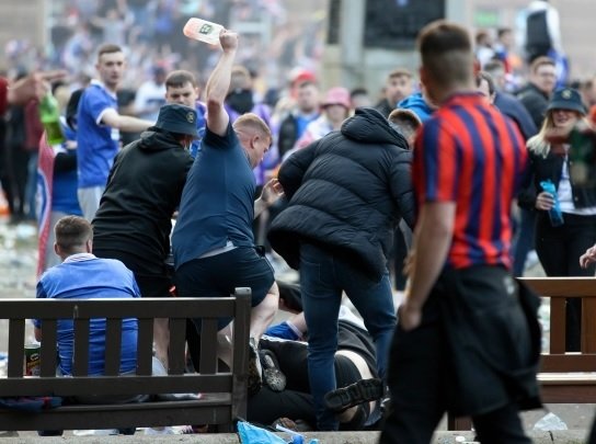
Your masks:
M140 297L133 272L121 261L99 259L91 254L93 231L80 216L65 216L56 224L56 254L62 263L46 271L37 283L37 297L54 299L90 299L103 297ZM35 319L35 338L42 340L42 321ZM73 354L72 320L58 321L60 372L71 374ZM101 375L104 368L105 320L91 320L89 332L89 375ZM137 320L125 319L122 328L121 373L137 365Z

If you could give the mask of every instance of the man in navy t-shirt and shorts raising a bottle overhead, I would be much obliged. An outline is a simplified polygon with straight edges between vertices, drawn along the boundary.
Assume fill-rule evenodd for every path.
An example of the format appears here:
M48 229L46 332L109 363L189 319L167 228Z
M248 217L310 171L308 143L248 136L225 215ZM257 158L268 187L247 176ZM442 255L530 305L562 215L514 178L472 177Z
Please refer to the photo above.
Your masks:
M222 55L206 86L205 136L186 178L172 235L175 283L181 297L221 297L236 287L251 287L254 308L250 335L254 345L275 315L278 291L271 264L255 249L252 221L282 193L273 180L254 202L252 170L263 160L272 136L267 125L252 113L231 125L224 102L238 35L222 31L219 41ZM254 346L251 350L255 351ZM254 368L253 380L260 384L259 372Z

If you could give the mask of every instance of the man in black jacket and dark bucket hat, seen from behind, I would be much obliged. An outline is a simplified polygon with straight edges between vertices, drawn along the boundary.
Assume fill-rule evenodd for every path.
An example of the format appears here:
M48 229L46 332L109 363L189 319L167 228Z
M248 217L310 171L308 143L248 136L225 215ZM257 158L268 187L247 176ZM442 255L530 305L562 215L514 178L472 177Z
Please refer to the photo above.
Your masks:
M93 219L93 252L118 259L135 273L142 297L167 297L172 286L165 260L172 215L193 164L188 146L197 137L196 111L168 104L154 126L116 156ZM165 364L165 320L154 326L157 356Z

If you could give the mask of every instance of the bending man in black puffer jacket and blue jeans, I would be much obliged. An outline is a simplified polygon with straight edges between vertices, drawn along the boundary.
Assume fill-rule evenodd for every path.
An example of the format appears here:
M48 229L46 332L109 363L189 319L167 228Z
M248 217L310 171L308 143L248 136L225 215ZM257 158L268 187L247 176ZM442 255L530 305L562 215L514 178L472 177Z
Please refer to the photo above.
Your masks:
M300 270L319 430L337 429L323 397L335 389L342 291L363 316L385 376L396 326L387 257L400 219L411 227L414 221L411 161L406 140L379 112L357 109L340 132L297 151L279 170L289 205L268 239Z

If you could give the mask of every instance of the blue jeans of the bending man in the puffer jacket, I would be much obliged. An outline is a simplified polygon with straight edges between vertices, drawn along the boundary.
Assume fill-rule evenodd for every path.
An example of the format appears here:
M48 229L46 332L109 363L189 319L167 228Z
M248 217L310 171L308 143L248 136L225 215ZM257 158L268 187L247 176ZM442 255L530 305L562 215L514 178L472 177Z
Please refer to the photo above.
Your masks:
M323 398L336 388L333 363L337 350L342 291L358 309L375 341L377 369L385 378L396 328L389 272L386 270L382 278L375 282L351 264L345 254L303 243L300 248L300 287L308 328L308 373L317 428L337 430L339 422L334 413L324 408Z

